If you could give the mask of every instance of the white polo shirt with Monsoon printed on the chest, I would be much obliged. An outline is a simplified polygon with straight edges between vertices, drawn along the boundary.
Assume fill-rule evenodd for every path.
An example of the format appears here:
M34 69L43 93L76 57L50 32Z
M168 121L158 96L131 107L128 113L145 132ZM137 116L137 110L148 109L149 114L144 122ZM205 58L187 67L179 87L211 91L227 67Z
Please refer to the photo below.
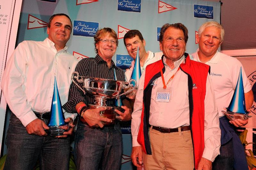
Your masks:
M190 55L191 60L201 62L198 57L198 51L199 49ZM219 117L222 117L224 114L221 110L229 106L236 89L240 67L242 67L244 93L252 89L251 84L245 74L243 65L234 57L217 51L212 59L205 64L211 66L210 77L214 88Z

